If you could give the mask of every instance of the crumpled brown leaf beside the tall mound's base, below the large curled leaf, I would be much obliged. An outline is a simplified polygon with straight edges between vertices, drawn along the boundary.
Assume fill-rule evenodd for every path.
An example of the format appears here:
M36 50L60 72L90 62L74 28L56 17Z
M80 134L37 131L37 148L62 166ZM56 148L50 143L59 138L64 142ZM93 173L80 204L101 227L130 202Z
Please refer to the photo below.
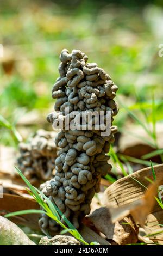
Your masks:
M106 239L114 240L118 245L136 243L139 228L136 225L123 224L123 222L133 223L133 219L128 216L120 222L112 223L108 208L101 207L86 217L95 228L106 236Z

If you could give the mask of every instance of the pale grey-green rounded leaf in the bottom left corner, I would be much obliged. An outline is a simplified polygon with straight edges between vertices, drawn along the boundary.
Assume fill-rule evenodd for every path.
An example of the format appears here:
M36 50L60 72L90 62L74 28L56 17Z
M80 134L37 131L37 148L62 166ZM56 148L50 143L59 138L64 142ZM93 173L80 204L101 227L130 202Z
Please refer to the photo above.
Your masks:
M35 245L35 243L17 225L0 216L0 245Z

